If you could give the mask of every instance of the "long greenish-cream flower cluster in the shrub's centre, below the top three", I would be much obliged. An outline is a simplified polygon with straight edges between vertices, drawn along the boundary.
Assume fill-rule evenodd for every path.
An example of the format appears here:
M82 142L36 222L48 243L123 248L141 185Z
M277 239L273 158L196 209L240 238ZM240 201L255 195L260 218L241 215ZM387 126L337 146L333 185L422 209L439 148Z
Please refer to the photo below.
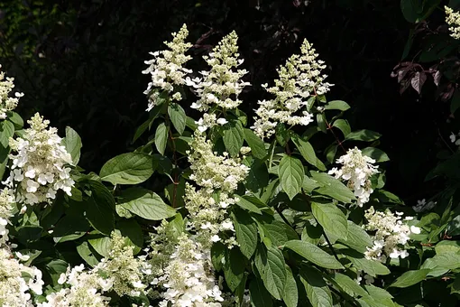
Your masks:
M244 181L249 168L238 158L227 153L213 152L212 144L204 135L196 133L190 143L189 179L195 181L200 189L190 184L186 186L185 202L190 214L190 224L199 232L201 243L210 247L221 240L219 232L234 230L233 222L227 218L227 208L237 199L232 197L238 183ZM215 198L218 191L218 198ZM235 244L235 237L225 241L229 247Z

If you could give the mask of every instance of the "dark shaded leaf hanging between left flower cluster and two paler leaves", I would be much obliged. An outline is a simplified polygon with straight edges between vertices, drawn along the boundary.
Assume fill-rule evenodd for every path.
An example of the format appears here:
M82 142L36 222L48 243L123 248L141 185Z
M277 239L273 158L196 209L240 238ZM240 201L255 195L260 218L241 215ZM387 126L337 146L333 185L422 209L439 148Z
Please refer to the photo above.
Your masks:
M99 181L89 181L91 197L87 200L86 218L99 232L110 236L115 229L115 200L106 186Z

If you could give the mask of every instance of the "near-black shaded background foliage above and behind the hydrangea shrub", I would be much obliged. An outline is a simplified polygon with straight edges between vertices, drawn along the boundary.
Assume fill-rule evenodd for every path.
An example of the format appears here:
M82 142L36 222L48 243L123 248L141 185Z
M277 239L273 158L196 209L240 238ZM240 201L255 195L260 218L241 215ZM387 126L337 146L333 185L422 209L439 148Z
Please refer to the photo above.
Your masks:
M435 23L442 23L444 14L437 14ZM436 190L421 183L437 163L437 144L449 143L449 106L432 80L422 95L413 88L401 95L391 78L402 52L413 64L419 46L409 39L409 49L409 31L419 30L394 0L3 0L0 63L26 94L18 112L27 118L40 111L60 131L72 126L83 139L81 166L97 172L136 147L133 133L147 118L143 60L182 23L195 55L238 33L253 84L244 93L246 112L264 96L260 85L308 38L335 84L328 98L352 106L347 116L354 129L383 135L380 148L391 158L388 190L410 205ZM203 67L199 60L191 65Z

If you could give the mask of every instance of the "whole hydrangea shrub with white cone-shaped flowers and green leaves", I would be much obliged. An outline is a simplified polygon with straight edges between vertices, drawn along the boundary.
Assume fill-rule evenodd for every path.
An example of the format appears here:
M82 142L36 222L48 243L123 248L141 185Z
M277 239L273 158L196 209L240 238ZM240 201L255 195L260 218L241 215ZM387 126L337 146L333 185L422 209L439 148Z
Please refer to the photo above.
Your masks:
M0 82L2 305L400 306L423 303L406 288L454 279L458 247L432 213L417 216L425 202L383 189L381 135L353 131L350 106L327 100L311 43L246 115L254 85L236 33L201 71L188 68L187 27L172 36L143 70L148 119L134 141L149 141L98 173L78 167L70 127L60 137L36 114L24 128L23 94Z

